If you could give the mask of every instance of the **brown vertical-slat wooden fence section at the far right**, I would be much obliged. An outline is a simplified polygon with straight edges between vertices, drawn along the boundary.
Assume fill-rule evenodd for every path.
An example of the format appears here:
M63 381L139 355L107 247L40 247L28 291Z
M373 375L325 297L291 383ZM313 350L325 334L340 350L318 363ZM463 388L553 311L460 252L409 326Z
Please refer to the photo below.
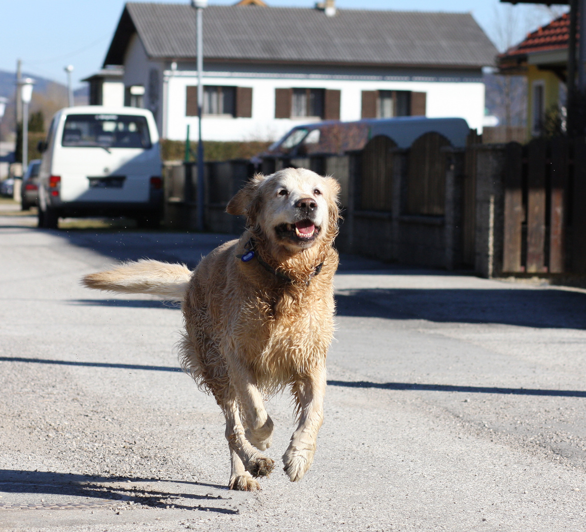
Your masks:
M506 145L503 273L586 273L586 141Z

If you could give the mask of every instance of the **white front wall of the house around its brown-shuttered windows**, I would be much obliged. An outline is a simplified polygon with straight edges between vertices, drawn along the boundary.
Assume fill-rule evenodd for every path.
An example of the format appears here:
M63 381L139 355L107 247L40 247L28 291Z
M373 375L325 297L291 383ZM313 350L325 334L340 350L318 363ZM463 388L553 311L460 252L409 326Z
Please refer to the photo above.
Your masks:
M134 69L132 69L134 70ZM132 71L131 70L131 71ZM166 135L171 139L185 139L187 125L191 138L196 139L197 118L185 116L186 86L197 84L193 70L166 70L168 126ZM126 77L126 75L125 75ZM129 79L130 79L129 73ZM390 77L390 76L387 76ZM397 76L399 77L399 76ZM204 117L202 136L215 141L276 140L289 129L306 124L307 118L275 118L275 88L308 87L338 89L340 94L340 120L360 120L363 90L408 90L427 93L427 116L430 118L464 118L471 128L482 131L485 87L479 76L430 77L402 76L406 81L381 79L379 75L332 76L319 73L254 73L239 75L231 72L206 71L206 85L226 85L253 88L253 117ZM419 79L417 79L419 78ZM137 79L137 78L133 78ZM138 84L138 81L136 82ZM133 83L134 84L134 83Z

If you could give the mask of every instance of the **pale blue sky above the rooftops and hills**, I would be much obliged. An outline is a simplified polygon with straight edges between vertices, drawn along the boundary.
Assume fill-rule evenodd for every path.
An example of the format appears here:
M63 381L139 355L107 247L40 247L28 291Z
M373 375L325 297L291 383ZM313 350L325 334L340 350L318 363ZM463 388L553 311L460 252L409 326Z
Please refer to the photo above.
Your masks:
M210 0L210 4L235 2ZM267 2L271 6L307 8L315 5L315 0ZM182 2L173 0L173 3ZM529 30L551 18L551 12L544 6L503 5L498 0L337 0L336 5L340 9L471 12L498 44L504 40L517 42ZM74 86L80 86L80 79L101 66L123 7L123 0L2 2L0 70L14 71L16 59L21 58L23 70L65 83L63 67L73 64ZM510 28L503 36L502 28L507 27Z

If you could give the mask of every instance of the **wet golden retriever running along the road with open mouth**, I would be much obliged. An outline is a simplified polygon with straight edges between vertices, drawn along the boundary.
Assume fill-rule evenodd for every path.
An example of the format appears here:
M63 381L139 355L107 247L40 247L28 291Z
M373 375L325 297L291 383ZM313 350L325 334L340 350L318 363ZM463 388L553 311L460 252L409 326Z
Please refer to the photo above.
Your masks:
M89 288L182 302L180 362L224 412L231 489L260 489L255 478L274 468L263 453L273 429L264 397L287 387L299 420L282 456L289 479L314 459L333 337L339 190L305 169L256 175L226 209L246 216L246 231L195 271L142 260L83 278Z

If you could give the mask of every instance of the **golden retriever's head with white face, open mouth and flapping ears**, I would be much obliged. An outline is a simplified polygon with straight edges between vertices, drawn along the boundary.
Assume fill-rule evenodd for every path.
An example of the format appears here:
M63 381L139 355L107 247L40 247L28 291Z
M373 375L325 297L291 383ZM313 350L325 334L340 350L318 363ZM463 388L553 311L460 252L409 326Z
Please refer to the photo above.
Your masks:
M340 185L304 168L255 175L226 211L243 214L247 227L272 244L301 251L331 243L338 231Z

